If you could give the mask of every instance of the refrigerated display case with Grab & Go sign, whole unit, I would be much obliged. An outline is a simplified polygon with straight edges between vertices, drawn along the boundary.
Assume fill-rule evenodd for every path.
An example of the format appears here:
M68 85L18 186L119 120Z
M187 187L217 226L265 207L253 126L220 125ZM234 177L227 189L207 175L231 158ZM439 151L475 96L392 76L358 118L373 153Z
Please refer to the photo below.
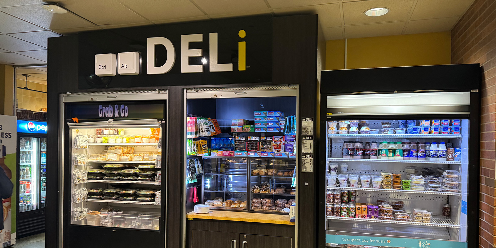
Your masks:
M106 101L89 100L97 98ZM64 247L164 246L166 99L166 91L63 96Z

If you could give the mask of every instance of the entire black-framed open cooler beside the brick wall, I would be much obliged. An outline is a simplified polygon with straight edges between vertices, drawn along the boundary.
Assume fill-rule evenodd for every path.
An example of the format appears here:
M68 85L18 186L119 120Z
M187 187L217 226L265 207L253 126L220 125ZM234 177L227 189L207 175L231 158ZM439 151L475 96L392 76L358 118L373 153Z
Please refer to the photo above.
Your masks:
M476 246L478 66L446 66L322 72L319 247Z

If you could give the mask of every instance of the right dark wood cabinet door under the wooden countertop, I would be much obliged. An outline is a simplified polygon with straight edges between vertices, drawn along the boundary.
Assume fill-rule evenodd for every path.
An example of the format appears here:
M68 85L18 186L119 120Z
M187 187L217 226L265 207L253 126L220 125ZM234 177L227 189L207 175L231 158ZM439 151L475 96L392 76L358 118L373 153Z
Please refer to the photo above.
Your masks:
M266 235L240 234L240 248L291 248L292 239Z

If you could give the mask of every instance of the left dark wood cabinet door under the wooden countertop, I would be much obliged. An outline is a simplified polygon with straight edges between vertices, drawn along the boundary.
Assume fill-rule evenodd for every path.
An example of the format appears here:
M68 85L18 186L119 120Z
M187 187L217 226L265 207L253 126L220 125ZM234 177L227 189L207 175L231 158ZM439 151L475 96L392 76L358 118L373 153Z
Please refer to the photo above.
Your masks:
M239 233L193 230L191 248L239 248L239 238Z

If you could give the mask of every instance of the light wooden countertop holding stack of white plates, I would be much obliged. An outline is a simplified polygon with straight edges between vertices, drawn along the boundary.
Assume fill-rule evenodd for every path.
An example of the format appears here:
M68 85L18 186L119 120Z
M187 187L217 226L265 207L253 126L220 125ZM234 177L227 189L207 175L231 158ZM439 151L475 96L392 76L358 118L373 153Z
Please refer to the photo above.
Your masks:
M210 210L210 212L206 214L197 214L194 213L194 211L192 211L186 214L186 218L295 225L295 222L289 221L288 214L262 214L262 213Z

